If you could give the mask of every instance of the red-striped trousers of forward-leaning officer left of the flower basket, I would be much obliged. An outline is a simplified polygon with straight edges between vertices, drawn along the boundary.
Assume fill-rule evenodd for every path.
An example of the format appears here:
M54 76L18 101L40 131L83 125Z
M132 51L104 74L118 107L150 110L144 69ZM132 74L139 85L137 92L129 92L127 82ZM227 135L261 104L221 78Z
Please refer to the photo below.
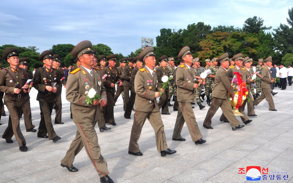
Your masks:
M236 127L240 125L240 122L236 119L236 116L233 114L230 102L228 99L219 99L219 98L212 98L211 106L207 111L207 116L203 122L203 125L210 127L212 124L212 118L214 117L215 113L218 111L219 107L221 107L223 114L229 120L231 127Z

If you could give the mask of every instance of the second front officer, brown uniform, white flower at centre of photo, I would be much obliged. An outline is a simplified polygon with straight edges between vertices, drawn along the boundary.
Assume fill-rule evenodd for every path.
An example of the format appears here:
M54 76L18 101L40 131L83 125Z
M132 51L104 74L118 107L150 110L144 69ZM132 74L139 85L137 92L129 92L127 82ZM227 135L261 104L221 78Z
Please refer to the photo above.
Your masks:
M144 61L145 66L137 72L134 80L134 89L136 92L134 105L135 113L128 153L134 156L142 156L137 142L142 132L144 122L148 119L155 131L158 152L161 152L161 156L174 154L176 151L172 151L168 148L164 125L156 100L156 97L160 96L160 92L157 91L160 90L160 88L157 86L158 78L156 72L153 70L156 66L154 48L150 46L146 47L139 54L138 59ZM161 89L161 91L164 92L163 89Z

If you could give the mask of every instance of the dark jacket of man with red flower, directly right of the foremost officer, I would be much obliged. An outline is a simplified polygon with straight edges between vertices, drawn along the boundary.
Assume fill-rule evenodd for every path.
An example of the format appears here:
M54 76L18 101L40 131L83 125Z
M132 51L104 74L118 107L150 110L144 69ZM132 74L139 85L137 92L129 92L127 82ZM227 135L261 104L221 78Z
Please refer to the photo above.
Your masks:
M105 78L105 82L104 82L104 86L105 86L105 89L106 89L106 92L111 92L113 94L115 94L116 92L116 89L115 87L111 87L111 83L116 83L117 81L120 81L121 78L118 74L118 69L116 67L114 68L111 68L109 65L107 67L104 67L102 70L101 70L101 73L102 73L102 76L107 74L108 76ZM118 83L119 85L119 83Z

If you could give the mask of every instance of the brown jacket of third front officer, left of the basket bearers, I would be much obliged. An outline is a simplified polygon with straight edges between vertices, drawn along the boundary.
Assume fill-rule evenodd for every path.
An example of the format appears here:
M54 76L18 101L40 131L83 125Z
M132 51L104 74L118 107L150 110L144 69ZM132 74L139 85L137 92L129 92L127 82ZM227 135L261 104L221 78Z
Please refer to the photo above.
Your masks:
M194 102L194 83L193 68L183 65L178 66L176 72L177 85L177 101L178 102Z

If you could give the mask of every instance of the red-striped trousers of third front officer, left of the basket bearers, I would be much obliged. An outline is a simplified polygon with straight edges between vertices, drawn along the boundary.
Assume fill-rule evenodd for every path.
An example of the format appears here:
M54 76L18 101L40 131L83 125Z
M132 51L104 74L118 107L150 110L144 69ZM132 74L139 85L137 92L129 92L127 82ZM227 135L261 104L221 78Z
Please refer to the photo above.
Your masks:
M178 102L178 104L179 104L179 109L178 109L178 114L177 114L172 138L173 139L182 138L180 133L182 131L184 122L186 122L192 141L194 142L198 141L199 139L202 138L202 134L200 133L200 129L198 128L191 103Z

